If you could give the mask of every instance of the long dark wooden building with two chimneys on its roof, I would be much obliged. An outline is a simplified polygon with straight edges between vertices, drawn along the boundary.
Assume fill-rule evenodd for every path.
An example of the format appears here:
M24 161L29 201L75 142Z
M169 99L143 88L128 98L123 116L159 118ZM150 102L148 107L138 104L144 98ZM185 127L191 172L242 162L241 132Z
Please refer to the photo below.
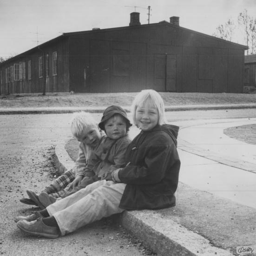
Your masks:
M0 64L0 92L243 92L247 46L170 22L64 33Z

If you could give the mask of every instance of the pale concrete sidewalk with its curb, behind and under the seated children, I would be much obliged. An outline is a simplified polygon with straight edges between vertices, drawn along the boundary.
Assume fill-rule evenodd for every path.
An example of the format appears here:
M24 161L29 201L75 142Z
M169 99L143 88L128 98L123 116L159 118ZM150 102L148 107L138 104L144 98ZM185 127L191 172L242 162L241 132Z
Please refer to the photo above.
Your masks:
M229 121L224 127L248 124L247 120ZM159 256L238 255L238 246L256 244L255 163L237 156L234 158L228 147L234 145L229 144L228 138L222 139L221 120L180 121L176 124L181 126L178 151L182 162L176 207L125 211L121 223ZM216 125L218 129L215 129ZM131 129L132 137L137 132ZM207 142L205 138L208 138ZM217 149L226 148L226 151L209 150L210 145L218 145ZM243 150L250 146L243 144ZM75 140L56 146L58 168L64 171L72 167L77 148ZM230 177L236 177L235 185ZM239 181L242 185L236 186ZM247 196L246 182L252 186Z

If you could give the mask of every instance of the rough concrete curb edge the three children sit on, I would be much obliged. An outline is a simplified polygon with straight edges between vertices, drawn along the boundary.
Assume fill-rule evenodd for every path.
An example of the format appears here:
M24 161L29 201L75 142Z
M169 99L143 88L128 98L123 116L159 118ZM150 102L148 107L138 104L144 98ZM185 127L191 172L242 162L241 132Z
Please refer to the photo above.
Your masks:
M74 164L65 149L66 143L55 147L55 163L59 173L71 169ZM120 223L157 252L158 256L233 255L229 250L213 246L203 236L186 229L172 219L163 217L157 210L125 211L120 215Z

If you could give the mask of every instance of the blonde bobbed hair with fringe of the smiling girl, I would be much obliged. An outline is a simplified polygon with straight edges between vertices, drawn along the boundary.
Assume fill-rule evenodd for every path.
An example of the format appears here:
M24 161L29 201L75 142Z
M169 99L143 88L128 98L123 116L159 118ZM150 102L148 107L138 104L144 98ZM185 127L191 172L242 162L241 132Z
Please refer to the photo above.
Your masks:
M131 105L131 113L133 124L138 127L135 121L135 113L138 107L144 107L146 104L152 105L158 111L158 125L163 125L167 123L165 112L164 112L164 101L160 94L155 90L142 90L139 92Z

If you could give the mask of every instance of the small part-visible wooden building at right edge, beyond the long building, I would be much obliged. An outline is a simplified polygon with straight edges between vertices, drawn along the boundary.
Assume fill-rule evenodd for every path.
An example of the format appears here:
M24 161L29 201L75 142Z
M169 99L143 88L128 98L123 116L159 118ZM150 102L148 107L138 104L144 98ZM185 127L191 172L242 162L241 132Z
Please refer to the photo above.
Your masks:
M256 88L256 54L244 57L244 86L248 89Z

